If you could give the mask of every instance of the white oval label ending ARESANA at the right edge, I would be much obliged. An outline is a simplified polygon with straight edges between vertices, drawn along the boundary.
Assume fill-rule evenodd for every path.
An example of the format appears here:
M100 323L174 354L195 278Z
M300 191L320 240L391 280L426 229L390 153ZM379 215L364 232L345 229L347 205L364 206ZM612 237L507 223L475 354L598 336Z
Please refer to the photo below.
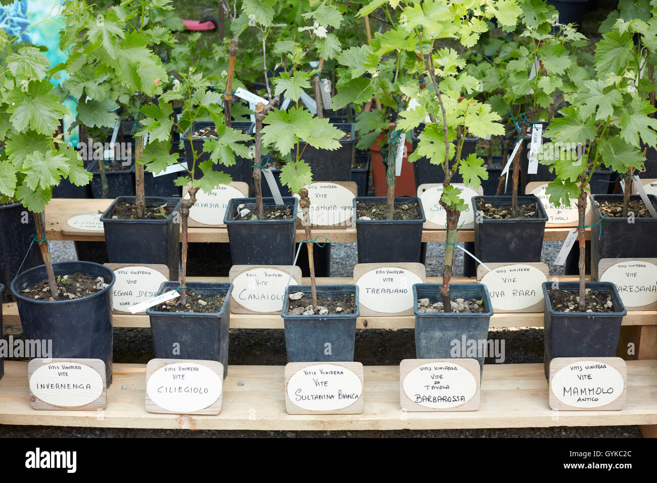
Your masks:
M657 266L649 262L618 262L602 273L600 281L616 284L625 307L657 302Z

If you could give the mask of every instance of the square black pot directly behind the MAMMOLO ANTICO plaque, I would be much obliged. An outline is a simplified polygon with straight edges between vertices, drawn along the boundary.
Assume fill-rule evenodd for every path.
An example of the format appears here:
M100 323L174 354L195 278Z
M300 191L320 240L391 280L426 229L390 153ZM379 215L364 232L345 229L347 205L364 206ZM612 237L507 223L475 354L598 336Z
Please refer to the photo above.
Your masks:
M616 285L610 282L587 282L585 288L609 290L615 312L557 312L552 310L548 289L552 282L543 282L545 297L545 377L550 361L555 357L614 357L623 317L627 314ZM578 282L561 282L559 288L579 293Z

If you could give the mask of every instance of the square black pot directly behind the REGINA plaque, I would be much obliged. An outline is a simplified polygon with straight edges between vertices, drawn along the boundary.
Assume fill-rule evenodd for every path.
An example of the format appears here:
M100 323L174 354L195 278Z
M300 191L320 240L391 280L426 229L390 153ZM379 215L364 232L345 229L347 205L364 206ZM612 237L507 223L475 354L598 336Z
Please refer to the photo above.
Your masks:
M165 219L113 219L119 202L135 202L135 196L119 196L101 216L110 264L164 264L170 279L178 278L180 263L180 204L182 198L146 196L147 204L167 204L173 211Z

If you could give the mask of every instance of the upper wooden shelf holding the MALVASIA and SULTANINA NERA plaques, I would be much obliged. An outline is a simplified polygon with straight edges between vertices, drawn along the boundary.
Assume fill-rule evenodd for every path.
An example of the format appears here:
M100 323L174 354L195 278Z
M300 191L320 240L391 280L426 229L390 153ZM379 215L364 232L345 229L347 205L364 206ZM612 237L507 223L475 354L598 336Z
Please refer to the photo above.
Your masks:
M76 215L97 214L104 212L112 200L97 199L75 199L75 198L53 198L46 207L46 237L50 241L68 240L68 241L104 241L104 235L64 235L62 227L66 220ZM570 228L546 228L545 241L563 241L568 236ZM422 231L422 241L426 242L444 242L446 236L445 230L424 230ZM313 229L313 237L324 235L330 241L355 242L356 229L335 229L320 230ZM304 230L296 231L296 241L306 239ZM591 239L590 229L586 230L586 239ZM190 242L227 242L228 232L225 228L197 228L189 227ZM474 231L459 230L456 237L457 242L474 241Z

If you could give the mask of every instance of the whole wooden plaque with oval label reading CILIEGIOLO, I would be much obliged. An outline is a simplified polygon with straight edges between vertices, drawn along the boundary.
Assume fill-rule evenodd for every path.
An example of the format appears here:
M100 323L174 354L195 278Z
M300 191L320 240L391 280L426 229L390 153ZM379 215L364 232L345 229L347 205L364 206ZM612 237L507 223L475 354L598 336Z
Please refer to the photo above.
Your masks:
M223 364L217 361L151 359L146 366L149 413L219 414L222 390Z

